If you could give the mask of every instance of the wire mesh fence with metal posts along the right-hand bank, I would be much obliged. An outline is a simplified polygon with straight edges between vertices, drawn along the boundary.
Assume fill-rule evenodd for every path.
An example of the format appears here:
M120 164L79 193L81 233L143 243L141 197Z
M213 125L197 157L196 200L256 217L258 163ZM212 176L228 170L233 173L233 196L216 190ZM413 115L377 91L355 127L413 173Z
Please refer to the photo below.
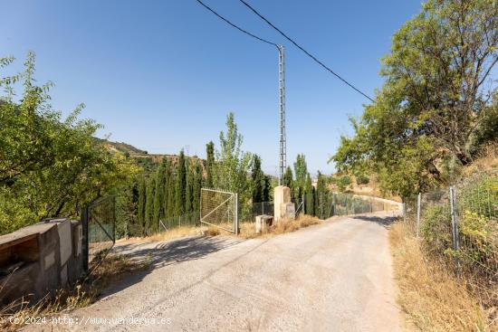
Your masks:
M474 176L405 200L404 221L426 255L454 270L493 306L498 305L497 215L496 175Z

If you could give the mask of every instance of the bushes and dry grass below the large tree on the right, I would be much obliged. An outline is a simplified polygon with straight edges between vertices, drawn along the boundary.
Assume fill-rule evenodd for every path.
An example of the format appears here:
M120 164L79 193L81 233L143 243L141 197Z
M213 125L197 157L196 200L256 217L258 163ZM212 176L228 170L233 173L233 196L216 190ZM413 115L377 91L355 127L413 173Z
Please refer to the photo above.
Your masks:
M398 302L422 330L498 331L498 155L476 164L494 167L457 187L458 250L446 190L426 194L418 238L413 207L390 230Z

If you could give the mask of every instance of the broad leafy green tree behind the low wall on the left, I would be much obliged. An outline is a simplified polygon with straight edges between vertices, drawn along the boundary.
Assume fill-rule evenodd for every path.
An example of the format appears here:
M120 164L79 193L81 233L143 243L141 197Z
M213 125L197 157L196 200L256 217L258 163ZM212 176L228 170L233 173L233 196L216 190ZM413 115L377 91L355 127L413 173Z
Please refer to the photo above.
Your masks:
M0 58L0 68L12 62ZM24 72L0 77L0 86L0 234L46 217L77 217L81 206L132 182L138 168L94 138L101 126L79 119L83 104L66 119L53 110L52 83L36 85L33 53Z

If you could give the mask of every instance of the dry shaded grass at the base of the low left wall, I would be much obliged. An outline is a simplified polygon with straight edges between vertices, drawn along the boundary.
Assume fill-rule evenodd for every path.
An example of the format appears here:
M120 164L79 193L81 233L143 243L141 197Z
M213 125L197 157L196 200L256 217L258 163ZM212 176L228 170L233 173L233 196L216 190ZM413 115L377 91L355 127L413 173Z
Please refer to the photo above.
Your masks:
M53 297L47 296L34 305L28 299L18 299L0 308L0 331L10 332L24 327L22 323L14 324L15 318L22 321L25 317L46 317L49 320L53 315L89 306L111 283L127 273L148 268L148 261L133 261L125 255L106 256L100 263L91 265L91 275L70 288L57 290ZM0 293L4 287L5 284L0 285Z

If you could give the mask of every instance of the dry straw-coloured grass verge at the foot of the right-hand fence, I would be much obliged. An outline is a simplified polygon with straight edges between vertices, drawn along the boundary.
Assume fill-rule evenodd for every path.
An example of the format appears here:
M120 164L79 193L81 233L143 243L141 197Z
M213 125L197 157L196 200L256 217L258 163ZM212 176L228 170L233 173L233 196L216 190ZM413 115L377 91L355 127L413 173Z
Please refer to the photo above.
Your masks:
M419 242L402 223L389 232L395 277L399 288L397 302L410 327L422 331L497 330L485 312L444 265L425 259Z

